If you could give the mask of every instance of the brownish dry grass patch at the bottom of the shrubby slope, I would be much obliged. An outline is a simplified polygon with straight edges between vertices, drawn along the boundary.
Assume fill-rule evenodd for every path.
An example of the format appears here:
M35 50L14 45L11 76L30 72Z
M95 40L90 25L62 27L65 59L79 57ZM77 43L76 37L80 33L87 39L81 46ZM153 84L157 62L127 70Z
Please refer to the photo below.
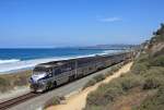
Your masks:
M153 96L156 90L142 90L140 87L132 88L125 96L117 98L115 102L107 106L109 110L133 110L133 108L140 106L142 101Z

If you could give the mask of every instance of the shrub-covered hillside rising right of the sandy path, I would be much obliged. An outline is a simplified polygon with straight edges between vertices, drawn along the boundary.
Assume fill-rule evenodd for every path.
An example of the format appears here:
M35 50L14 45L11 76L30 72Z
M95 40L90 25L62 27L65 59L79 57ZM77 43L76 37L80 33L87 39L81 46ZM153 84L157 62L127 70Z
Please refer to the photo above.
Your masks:
M144 42L130 72L87 96L84 110L163 110L164 25Z

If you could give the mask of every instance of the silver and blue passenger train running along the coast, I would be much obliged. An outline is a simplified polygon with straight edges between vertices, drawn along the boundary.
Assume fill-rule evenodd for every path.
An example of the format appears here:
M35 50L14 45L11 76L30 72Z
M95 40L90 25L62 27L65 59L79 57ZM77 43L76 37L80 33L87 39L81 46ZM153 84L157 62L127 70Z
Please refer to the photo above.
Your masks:
M30 88L33 93L44 93L130 58L131 52L121 52L40 63L33 70Z

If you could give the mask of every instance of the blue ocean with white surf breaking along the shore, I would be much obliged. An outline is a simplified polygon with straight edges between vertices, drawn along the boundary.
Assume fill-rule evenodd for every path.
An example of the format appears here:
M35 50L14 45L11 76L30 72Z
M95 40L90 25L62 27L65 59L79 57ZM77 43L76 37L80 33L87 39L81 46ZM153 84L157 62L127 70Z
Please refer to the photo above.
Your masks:
M19 70L33 69L38 63L63 59L115 53L118 50L80 50L78 48L55 49L0 49L0 74Z

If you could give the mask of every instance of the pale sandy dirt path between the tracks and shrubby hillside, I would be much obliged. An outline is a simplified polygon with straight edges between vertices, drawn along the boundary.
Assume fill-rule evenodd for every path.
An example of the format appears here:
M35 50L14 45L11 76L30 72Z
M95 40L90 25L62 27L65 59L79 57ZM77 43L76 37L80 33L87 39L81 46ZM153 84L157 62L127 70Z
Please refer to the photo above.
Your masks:
M85 107L87 94L95 90L101 84L108 83L112 80L119 77L121 74L127 73L130 70L131 65L132 62L124 65L118 72L114 73L114 75L112 76L108 76L103 82L99 82L96 85L91 86L77 95L70 96L66 100L65 105L52 106L47 108L47 110L82 110Z

